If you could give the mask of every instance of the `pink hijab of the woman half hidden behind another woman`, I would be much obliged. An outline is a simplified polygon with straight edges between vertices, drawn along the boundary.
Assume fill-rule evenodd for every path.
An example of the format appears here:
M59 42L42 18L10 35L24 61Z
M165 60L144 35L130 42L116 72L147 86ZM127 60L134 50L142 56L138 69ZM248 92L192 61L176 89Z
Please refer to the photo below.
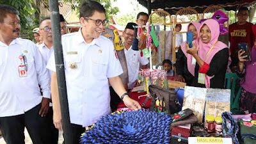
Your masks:
M191 23L188 24L188 28L189 28L190 24L193 24L195 26L195 28L196 28L196 31L197 31L197 38L193 41L193 42L195 42L195 45L196 45L196 48L197 48L198 44L199 44L199 40L200 40L199 34L200 34L200 26L201 26L201 24L199 22L191 22ZM187 31L188 31L188 29L187 29ZM180 44L180 49L182 50L182 52L187 57L188 71L190 72L190 74L195 76L195 65L192 65L192 58L193 58L193 56L186 52L186 43L187 43L187 41L182 42L182 44Z

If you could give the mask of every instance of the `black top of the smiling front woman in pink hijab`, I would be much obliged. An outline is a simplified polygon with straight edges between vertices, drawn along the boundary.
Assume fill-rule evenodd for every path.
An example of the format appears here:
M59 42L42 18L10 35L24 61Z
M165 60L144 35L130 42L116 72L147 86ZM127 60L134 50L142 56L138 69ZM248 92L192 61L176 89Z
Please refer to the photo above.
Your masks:
M225 82L225 74L228 65L228 48L221 49L221 51L217 52L210 63L209 70L206 72L207 76L214 77L210 80L210 88L224 88ZM195 67L195 77L193 79L193 83L191 86L205 88L205 84L198 83L198 72L199 65L196 63Z

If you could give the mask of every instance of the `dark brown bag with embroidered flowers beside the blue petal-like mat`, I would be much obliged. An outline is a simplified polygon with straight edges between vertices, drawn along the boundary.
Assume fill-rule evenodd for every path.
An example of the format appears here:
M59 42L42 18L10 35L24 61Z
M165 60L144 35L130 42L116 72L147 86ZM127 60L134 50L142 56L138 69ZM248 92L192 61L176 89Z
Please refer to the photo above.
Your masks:
M177 98L179 90L175 92L155 85L148 86L148 90L152 95L150 111L164 112L168 115L179 111L180 103Z

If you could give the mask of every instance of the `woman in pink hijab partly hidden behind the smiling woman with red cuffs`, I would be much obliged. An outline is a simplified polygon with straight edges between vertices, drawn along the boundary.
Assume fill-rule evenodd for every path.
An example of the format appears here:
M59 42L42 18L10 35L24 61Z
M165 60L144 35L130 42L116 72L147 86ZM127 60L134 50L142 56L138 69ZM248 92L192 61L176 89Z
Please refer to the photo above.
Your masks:
M191 22L188 25L188 31L193 32L193 39L195 42L196 48L199 44L199 31L201 24L199 22ZM180 48L176 54L176 72L177 79L176 81L185 81L187 86L191 85L193 77L195 76L195 64L193 65L192 59L193 56L186 52L186 41L182 42Z

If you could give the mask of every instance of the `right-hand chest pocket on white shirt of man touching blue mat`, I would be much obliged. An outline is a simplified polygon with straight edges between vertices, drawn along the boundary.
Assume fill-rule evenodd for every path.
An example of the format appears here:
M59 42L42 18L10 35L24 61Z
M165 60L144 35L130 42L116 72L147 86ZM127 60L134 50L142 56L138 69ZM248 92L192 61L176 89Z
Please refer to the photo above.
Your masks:
M108 70L108 58L104 52L99 52L92 58L92 74L95 76L106 76Z

